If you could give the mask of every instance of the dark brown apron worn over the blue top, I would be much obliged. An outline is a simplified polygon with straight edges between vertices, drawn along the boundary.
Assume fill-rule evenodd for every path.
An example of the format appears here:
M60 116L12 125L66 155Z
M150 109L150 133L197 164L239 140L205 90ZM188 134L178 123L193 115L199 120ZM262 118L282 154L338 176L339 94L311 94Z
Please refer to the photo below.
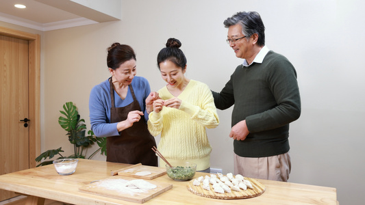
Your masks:
M129 85L129 90L133 96L133 102L126 107L115 107L114 88L110 79L110 96L112 100L112 107L110 109L111 123L126 120L129 111L141 111L131 85ZM153 146L156 146L155 137L149 133L147 123L143 116L141 117L140 121L134 122L131 127L121 131L120 135L106 138L106 161L158 166L158 157L151 149Z

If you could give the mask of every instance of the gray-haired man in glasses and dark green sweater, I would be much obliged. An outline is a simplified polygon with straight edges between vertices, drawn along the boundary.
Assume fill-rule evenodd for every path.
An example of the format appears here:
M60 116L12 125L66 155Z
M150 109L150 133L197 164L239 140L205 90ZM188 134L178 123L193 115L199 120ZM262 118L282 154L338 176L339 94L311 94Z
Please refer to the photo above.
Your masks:
M231 132L234 172L251 178L288 181L289 123L301 114L294 66L265 46L265 27L257 12L227 18L227 43L243 63L221 92L213 92L218 109L234 105Z

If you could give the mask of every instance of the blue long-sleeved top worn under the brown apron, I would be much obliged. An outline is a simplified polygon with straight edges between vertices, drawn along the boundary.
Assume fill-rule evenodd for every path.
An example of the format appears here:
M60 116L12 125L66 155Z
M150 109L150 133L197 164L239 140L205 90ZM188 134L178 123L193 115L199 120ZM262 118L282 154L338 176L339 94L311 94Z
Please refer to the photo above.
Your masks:
M147 122L149 115L146 111L146 98L151 92L149 82L144 77L134 77L131 82L134 95L140 104L140 109L144 113L144 119ZM114 90L115 107L125 107L133 102L133 96L128 87L127 96L124 100L118 96ZM90 92L89 111L91 130L97 137L110 137L119 135L116 128L118 122L110 123L110 108L112 102L110 98L110 82L103 81L99 85L95 85ZM142 120L142 119L141 119Z

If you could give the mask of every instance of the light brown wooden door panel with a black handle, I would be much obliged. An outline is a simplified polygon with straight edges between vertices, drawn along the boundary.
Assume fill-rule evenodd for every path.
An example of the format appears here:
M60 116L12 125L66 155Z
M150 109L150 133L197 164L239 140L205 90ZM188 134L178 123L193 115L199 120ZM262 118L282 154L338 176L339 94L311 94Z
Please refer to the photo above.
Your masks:
M0 36L0 174L29 168L28 41ZM31 122L27 122L29 125ZM14 197L0 192L0 201Z

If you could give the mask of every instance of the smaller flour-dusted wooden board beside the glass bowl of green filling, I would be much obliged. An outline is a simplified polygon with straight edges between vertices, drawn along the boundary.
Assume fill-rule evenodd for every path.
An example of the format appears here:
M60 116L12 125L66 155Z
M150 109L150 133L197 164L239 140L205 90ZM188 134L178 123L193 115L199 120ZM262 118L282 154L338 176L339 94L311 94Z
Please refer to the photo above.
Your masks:
M140 176L140 175L138 175L140 173L145 173L145 174L147 173L147 175ZM148 174L148 173L151 173L151 174ZM121 175L121 176L129 176L129 177L133 177L133 178L142 178L142 179L147 179L147 180L157 178L164 174L166 174L166 168L151 167L151 166L145 166L145 165L136 165L133 167L129 167L127 169L123 169L118 172L118 175Z

